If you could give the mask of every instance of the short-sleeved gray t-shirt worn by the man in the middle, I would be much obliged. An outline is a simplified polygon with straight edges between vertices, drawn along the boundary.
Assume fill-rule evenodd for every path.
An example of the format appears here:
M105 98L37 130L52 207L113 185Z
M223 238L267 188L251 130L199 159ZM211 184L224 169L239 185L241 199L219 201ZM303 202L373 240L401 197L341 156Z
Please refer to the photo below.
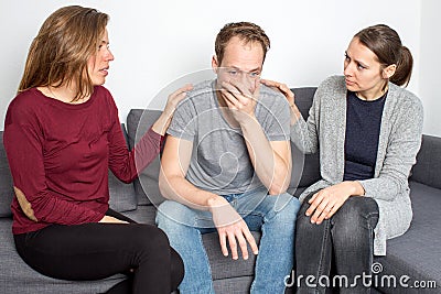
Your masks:
M241 130L232 128L222 115L215 83L206 80L194 86L178 106L168 133L193 142L186 174L190 183L217 195L241 194L262 184ZM290 109L280 92L261 85L255 113L269 141L290 140Z

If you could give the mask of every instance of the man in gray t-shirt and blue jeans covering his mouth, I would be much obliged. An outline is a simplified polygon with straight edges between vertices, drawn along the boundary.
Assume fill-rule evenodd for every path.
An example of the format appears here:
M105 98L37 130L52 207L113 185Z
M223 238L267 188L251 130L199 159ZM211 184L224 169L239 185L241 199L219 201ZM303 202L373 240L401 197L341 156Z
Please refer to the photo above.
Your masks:
M269 39L256 24L225 25L216 37L215 80L178 106L161 161L158 226L184 261L180 293L214 293L201 233L216 231L234 260L257 257L251 292L283 293L293 265L299 200L291 175L290 108L260 85ZM259 247L250 230L262 232ZM237 246L238 244L238 246Z

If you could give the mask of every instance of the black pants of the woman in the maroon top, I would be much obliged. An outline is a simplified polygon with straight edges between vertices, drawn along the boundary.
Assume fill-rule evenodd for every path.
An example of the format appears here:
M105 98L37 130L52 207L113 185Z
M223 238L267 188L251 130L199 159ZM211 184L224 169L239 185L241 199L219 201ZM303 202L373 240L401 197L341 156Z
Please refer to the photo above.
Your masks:
M184 265L165 233L111 209L106 215L130 224L52 225L15 235L17 251L35 271L55 279L87 281L127 274L126 281L107 292L111 294L176 290Z

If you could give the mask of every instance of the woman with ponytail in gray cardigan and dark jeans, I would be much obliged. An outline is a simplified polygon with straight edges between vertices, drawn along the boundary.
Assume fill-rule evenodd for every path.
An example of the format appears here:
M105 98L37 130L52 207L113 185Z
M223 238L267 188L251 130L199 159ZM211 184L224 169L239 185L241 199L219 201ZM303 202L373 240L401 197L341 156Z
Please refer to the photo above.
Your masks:
M286 85L263 81L281 90L292 107L291 140L304 153L320 152L322 179L300 196L298 293L324 293L326 284L333 285L331 268L355 284L337 283L341 293L369 293L356 276L370 275L374 255L386 254L386 240L409 228L408 176L423 117L418 97L399 87L407 86L411 69L409 50L396 31L380 24L352 39L344 76L319 86L306 121ZM310 287L299 279L309 275L314 277Z

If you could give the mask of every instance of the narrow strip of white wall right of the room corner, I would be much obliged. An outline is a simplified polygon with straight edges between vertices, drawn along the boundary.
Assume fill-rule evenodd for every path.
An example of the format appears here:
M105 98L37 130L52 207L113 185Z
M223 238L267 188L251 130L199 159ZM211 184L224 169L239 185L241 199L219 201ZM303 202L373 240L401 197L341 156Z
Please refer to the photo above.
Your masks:
M419 92L424 106L424 132L441 135L441 122L438 111L441 110L440 69L441 69L441 2L439 0L421 1L421 58Z

